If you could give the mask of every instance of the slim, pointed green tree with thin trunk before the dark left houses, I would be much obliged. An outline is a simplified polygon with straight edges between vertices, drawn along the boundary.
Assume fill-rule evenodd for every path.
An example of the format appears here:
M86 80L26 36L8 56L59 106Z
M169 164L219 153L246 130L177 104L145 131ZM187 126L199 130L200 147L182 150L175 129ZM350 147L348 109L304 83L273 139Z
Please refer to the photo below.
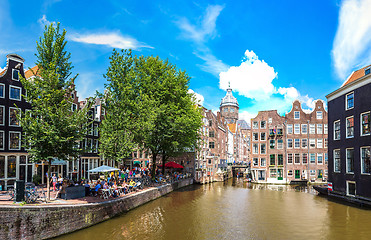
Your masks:
M53 26L50 25L47 31L56 30L53 30ZM50 52L52 49L47 48L51 46L53 48L58 44L60 43L53 42L51 45L46 45L42 51ZM65 46L65 43L62 45ZM38 51L40 52L41 49L38 48ZM62 81L59 67L56 65L64 65L61 59L55 57L47 64L45 59L40 59L41 56L38 55L39 71L37 74L34 73L35 78L32 80L21 78L22 85L27 91L24 97L31 104L32 109L18 117L23 130L23 146L28 149L31 160L48 162L50 177L52 159L71 160L78 156L80 152L78 143L85 136L88 125L87 111L92 101L89 101L81 111L73 112L70 95L74 90L75 78ZM43 65L40 62L43 62ZM66 73L66 76L69 75L70 72ZM47 186L50 199L49 179Z

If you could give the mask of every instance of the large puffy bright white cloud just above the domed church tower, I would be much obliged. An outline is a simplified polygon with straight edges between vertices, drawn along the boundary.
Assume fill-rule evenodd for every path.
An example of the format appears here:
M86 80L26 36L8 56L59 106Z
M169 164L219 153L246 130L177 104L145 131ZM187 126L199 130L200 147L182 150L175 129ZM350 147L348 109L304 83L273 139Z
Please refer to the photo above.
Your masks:
M221 72L219 87L231 88L240 95L255 100L264 100L274 93L272 84L277 73L264 60L259 60L253 51L246 50L245 58L240 66L232 66L226 72Z

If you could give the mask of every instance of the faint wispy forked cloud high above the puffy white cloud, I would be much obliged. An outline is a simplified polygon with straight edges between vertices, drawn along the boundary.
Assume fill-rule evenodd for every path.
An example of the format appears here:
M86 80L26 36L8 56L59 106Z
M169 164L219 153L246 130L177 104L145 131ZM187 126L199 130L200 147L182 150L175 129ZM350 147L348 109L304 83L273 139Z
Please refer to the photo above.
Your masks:
M215 76L218 76L221 71L227 70L228 66L213 55L206 42L217 35L216 20L223 8L224 6L221 5L209 5L201 20L196 24L190 23L186 18L176 21L177 26L182 30L181 36L184 39L191 40L196 45L193 54L204 61L203 64L198 64L198 66L203 71Z

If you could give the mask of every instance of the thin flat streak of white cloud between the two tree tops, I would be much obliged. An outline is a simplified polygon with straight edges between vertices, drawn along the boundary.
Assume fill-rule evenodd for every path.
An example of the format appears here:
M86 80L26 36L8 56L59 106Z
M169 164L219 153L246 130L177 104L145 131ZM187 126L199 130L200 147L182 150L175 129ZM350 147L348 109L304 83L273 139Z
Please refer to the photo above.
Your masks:
M123 36L120 33L93 33L93 34L73 34L69 36L72 41L105 45L113 48L122 49L139 49L139 48L153 48L144 43L137 41L130 36Z

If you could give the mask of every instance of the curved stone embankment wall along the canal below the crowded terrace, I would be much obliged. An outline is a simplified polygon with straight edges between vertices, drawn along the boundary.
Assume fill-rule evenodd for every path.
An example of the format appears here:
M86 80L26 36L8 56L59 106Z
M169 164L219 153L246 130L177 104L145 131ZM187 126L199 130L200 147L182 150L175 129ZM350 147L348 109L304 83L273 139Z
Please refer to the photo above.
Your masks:
M45 239L70 233L191 184L193 179L184 179L102 203L0 206L0 239Z

